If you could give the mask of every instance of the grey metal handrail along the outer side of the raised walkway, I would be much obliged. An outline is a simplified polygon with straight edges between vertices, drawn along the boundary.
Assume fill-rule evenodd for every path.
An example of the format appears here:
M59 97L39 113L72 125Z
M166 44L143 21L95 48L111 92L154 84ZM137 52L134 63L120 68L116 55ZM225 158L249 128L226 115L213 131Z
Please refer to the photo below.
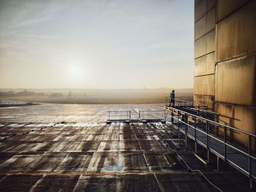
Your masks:
M170 107L170 108L165 107L165 110L171 110L172 111L172 117L171 117L172 118L171 119L172 123L174 123L174 119L176 119L178 121L178 123L183 123L185 125L184 128L180 128L179 124L176 126L178 128L178 139L180 139L179 132L181 131L185 134L186 140L187 140L187 137L190 137L191 139L195 140L195 153L197 153L196 143L199 143L203 147L206 147L207 152L208 152L208 155L207 155L208 156L208 161L210 161L210 151L215 153L218 157L223 158L227 163L236 167L238 170L240 170L241 172L246 174L246 176L249 177L250 188L252 188L252 179L256 180L256 176L254 174L252 174L252 160L254 160L254 161L256 160L256 155L255 155L255 153L252 153L252 151L251 151L252 150L252 144L251 144L252 137L256 137L255 134L251 134L251 133L248 133L246 131L239 130L238 128L233 128L233 127L230 127L230 126L226 126L224 124L217 123L217 122L214 122L214 121L206 119L206 118L202 118L198 115L194 115L194 114L191 114L191 113L183 111L183 110L178 110L175 107ZM173 110L178 112L178 117L177 118L173 114ZM181 114L185 115L184 120L179 118L179 115L181 115ZM189 118L188 118L189 116L194 118L193 119L194 122L192 121L192 124L189 123ZM197 122L200 122L199 120L203 120L203 124L205 124L206 126L203 126L201 128L200 127L197 128ZM211 124L217 125L217 126L222 126L224 128L224 131L225 131L224 135L223 135L224 138L216 137L216 136L214 136L214 134L212 134L212 131L214 131L214 130L212 130L211 126L209 126ZM195 130L194 135L192 134L193 131L188 131L189 128L192 128L193 130ZM203 128L206 128L206 129L203 129ZM233 145L230 142L227 142L227 128L230 128L231 130L241 132L243 134L246 134L246 136L248 136L248 149L247 150L243 150L241 147ZM210 130L211 130L211 132L210 132ZM206 143L200 141L200 139L197 139L197 138L199 138L199 137L197 137L197 134L196 134L197 131L202 133L204 135L204 137L206 137ZM224 149L223 149L224 153L222 151L215 150L213 147L211 147L211 139L210 138L216 140L216 142L219 142L221 144L220 146L222 146L222 145L224 146ZM238 162L234 161L232 158L229 158L227 156L228 155L227 147L230 147L230 149L233 149L234 151L236 151L235 153L240 153L240 154L246 155L247 160L246 160L246 158L244 158L244 160L249 161L248 165L247 164L243 165L241 163L238 163ZM219 159L219 158L217 158L217 159ZM245 167L247 167L247 168L245 168ZM219 168L217 168L217 169L219 169Z

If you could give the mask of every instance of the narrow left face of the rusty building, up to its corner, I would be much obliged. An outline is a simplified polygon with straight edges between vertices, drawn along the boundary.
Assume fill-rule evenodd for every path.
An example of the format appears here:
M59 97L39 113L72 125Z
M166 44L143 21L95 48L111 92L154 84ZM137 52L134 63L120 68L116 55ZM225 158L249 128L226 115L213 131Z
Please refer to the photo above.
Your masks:
M194 99L214 107L216 4L195 1L195 83Z

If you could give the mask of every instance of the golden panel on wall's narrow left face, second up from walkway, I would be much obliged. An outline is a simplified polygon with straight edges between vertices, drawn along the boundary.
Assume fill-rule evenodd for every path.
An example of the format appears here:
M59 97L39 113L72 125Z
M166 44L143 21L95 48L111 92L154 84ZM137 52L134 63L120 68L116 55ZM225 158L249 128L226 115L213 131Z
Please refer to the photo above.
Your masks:
M214 96L214 74L194 78L194 93Z

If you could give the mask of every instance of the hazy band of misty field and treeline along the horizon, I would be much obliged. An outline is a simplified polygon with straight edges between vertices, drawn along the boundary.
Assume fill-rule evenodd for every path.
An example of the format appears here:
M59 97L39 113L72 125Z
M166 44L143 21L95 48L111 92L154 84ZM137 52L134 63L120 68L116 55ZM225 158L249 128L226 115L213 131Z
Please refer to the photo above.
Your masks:
M58 104L164 103L172 88L143 89L0 89L0 99ZM193 96L192 88L176 89L176 98Z

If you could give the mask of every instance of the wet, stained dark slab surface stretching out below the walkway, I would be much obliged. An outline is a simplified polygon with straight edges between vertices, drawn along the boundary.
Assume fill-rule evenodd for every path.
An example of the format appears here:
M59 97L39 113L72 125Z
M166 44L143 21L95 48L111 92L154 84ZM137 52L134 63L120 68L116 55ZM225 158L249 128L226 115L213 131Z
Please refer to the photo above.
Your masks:
M216 191L178 161L169 125L105 122L107 110L127 109L163 104L1 108L0 191ZM65 123L50 115L61 110Z

